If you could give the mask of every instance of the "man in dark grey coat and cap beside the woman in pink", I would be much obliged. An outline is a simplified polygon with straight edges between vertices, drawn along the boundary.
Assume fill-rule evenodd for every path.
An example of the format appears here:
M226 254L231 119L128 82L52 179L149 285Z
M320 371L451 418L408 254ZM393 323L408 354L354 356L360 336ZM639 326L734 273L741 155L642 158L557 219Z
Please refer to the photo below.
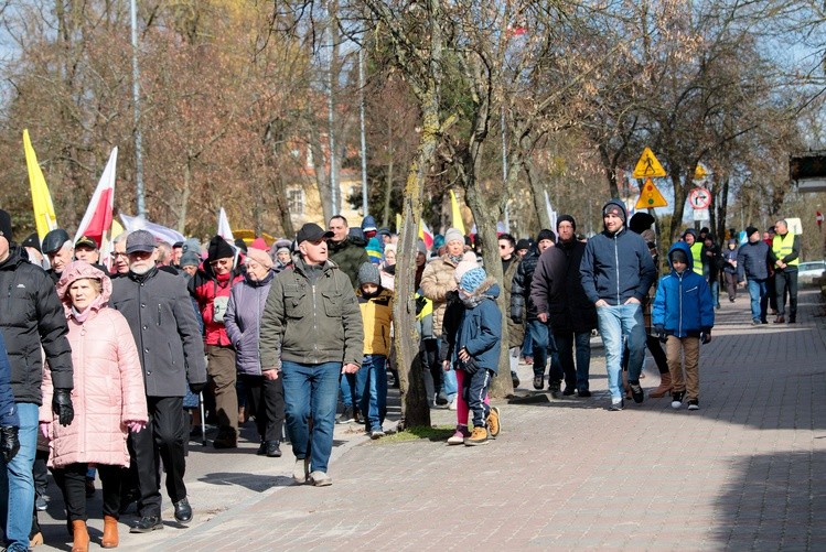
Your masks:
M206 385L204 344L195 311L186 292L186 281L158 270L154 237L136 230L126 239L129 274L112 281L110 305L120 311L138 345L147 390L149 423L131 433L132 454L138 469L140 520L131 532L163 529L158 464L167 470L167 493L175 508L175 519L192 519L183 476L183 396L186 385L194 393Z

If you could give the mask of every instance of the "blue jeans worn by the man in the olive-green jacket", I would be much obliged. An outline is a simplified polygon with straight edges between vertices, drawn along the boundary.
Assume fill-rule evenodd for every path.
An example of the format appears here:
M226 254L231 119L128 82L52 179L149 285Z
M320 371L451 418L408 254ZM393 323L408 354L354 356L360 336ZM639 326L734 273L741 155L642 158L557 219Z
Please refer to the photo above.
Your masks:
M287 433L296 458L310 455L310 469L326 473L333 450L341 362L281 362ZM308 419L312 415L312 434Z

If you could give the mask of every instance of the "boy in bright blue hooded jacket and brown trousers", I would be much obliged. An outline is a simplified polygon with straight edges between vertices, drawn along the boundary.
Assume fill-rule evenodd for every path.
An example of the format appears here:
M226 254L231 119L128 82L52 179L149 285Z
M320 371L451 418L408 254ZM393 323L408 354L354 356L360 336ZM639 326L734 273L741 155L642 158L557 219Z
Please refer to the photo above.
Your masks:
M691 251L684 241L672 246L668 263L672 272L659 279L652 323L659 340L666 344L665 355L672 376L672 408L680 408L687 396L688 410L699 410L700 342L706 344L711 340L711 327L715 325L711 291L706 280L694 272Z

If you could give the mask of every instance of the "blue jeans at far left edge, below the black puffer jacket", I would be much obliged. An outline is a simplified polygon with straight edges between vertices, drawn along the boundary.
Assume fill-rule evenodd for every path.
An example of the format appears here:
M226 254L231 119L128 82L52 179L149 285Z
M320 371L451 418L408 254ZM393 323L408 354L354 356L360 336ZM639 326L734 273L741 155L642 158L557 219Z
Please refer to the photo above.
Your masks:
M20 451L9 464L0 456L0 520L6 542L17 550L29 550L29 531L34 511L34 453L37 448L37 405L19 402Z

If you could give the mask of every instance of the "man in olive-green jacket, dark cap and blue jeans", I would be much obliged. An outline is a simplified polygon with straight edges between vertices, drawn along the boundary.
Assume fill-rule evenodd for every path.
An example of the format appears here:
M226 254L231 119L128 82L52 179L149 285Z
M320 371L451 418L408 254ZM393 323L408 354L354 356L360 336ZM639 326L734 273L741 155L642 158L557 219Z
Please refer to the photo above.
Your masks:
M326 470L339 377L358 371L364 347L355 292L328 259L330 237L317 224L301 227L296 237L300 255L293 256L292 270L272 281L260 329L262 375L283 378L287 432L296 455L292 477L317 487L333 483Z

